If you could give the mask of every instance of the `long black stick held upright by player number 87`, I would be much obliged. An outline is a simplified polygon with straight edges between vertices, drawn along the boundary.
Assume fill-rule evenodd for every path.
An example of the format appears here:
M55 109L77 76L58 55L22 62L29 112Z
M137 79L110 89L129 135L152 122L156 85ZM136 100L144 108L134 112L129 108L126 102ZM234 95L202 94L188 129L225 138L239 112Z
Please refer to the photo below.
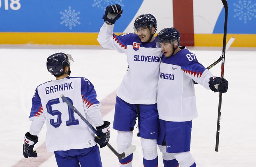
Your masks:
M221 0L225 9L225 22L224 22L224 33L223 33L223 47L221 56L221 79L224 77L224 65L225 65L225 54L226 54L226 39L227 39L227 14L229 5L227 0ZM222 93L219 93L219 107L218 107L218 119L217 119L217 131L216 131L216 144L215 151L219 151L219 128L221 123L221 103L222 103Z

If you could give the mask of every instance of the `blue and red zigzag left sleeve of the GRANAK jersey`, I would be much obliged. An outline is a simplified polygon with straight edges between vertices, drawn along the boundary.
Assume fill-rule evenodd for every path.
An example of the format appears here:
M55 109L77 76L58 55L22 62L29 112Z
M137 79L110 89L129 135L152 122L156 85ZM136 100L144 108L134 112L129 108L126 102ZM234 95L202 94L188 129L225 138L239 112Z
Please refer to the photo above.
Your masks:
M34 119L33 117L34 118L40 117L40 118L43 118L44 120L46 118L37 89L35 90L35 94L32 98L32 107L31 107L29 119L32 120Z

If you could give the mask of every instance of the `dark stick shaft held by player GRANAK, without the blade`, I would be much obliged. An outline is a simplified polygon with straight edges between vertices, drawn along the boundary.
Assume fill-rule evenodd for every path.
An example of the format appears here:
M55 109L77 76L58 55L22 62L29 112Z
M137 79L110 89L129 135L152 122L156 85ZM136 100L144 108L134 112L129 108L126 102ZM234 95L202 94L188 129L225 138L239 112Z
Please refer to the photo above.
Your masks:
M72 109L77 115L80 116L80 118L82 119L82 121L84 121L84 123L97 135L99 136L99 133L97 132L97 130L90 124L90 122L88 122L84 116L82 116L82 114L73 106L72 103L70 103L69 100L67 100L67 98L61 94L61 98L63 101L65 101L65 103L67 103L67 105L70 107L70 109ZM120 159L125 158L124 154L119 154L109 143L107 143L108 148Z

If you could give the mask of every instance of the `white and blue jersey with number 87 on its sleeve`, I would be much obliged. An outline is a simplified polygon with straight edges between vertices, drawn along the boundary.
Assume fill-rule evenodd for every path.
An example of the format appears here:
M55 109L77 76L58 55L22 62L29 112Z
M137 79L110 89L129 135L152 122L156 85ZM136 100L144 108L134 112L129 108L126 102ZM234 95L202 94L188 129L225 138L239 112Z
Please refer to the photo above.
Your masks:
M209 88L212 73L198 63L184 46L169 58L163 57L157 86L159 118L165 121L191 121L197 117L194 83Z

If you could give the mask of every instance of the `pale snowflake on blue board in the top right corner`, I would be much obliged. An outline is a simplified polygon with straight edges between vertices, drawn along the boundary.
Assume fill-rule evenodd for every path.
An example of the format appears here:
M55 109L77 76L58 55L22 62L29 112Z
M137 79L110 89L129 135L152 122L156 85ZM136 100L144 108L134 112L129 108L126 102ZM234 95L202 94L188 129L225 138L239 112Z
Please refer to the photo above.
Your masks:
M247 21L251 21L253 18L256 18L256 3L252 3L250 0L239 0L238 4L233 4L236 9L234 9L235 15L234 17L238 17L239 20L244 20L244 24Z

